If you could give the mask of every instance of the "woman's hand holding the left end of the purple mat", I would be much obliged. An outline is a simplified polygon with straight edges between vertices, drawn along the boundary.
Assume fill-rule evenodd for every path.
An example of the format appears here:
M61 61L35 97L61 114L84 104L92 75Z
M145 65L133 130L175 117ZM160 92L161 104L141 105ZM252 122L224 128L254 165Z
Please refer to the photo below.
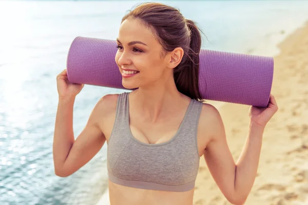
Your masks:
M84 84L70 83L67 77L67 70L63 70L56 76L56 87L59 98L75 97L83 89Z

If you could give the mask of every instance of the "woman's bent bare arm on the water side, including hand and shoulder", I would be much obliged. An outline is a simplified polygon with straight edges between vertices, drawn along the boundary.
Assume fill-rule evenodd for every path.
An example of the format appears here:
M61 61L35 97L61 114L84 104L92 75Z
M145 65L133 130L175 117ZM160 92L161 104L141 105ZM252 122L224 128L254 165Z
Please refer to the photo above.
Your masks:
M98 101L85 128L75 139L73 106L75 96L80 93L84 85L70 83L66 69L57 75L56 82L59 104L52 147L54 172L57 176L66 177L84 166L103 147L106 138L99 125L109 125L109 117L115 110L117 96L105 95Z

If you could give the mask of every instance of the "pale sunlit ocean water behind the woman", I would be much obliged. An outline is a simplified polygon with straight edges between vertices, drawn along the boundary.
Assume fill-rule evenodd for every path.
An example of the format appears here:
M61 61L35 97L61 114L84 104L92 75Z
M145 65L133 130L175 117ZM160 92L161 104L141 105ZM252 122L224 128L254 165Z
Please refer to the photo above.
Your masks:
M115 39L122 16L145 1L0 1L0 204L95 204L107 189L106 148L73 175L54 175L56 75L76 36ZM308 1L158 1L206 34L202 47L274 56L308 19ZM85 86L74 104L75 137L100 97Z

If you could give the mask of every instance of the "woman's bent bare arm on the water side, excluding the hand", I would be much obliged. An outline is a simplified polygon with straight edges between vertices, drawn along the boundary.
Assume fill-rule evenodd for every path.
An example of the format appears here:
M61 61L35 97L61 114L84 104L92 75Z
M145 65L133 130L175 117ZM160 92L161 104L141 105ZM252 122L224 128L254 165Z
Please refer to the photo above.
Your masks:
M94 107L85 128L76 140L73 133L74 100L74 97L60 97L57 107L53 162L55 174L61 177L69 176L83 167L100 151L106 141L98 124L99 116L103 114L101 107L104 97Z

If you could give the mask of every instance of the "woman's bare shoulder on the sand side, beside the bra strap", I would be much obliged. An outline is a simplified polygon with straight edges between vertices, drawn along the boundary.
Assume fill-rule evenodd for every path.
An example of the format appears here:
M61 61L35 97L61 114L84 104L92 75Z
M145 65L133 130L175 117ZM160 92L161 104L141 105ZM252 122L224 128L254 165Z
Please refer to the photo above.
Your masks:
M223 121L217 108L203 103L198 124L198 141L200 141L201 147L205 149L210 141L222 136L223 132Z

